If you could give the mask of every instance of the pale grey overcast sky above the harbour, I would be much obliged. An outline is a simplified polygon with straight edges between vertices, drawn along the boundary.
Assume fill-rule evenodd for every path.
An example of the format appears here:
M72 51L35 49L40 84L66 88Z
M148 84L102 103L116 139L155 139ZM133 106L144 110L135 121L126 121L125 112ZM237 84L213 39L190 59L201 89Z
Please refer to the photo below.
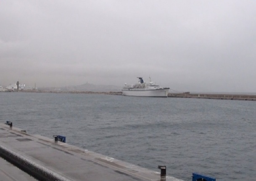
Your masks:
M1 0L0 84L256 92L256 0Z

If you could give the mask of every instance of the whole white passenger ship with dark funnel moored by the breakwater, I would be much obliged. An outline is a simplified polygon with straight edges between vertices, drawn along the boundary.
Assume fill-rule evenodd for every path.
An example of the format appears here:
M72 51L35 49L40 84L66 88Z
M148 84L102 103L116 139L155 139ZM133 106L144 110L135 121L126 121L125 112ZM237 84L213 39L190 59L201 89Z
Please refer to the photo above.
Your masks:
M125 96L141 96L141 97L168 97L169 87L160 87L151 81L144 82L142 77L137 77L139 83L127 85L124 84L122 94Z

